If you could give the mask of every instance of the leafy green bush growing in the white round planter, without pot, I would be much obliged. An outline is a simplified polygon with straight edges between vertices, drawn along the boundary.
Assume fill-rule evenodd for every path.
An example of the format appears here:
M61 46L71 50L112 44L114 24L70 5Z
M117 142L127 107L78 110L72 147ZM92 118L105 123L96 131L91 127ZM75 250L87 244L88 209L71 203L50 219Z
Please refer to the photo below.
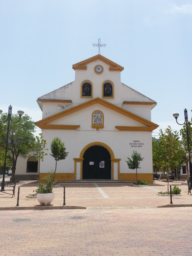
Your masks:
M43 177L45 181L44 183L38 180L38 186L37 186L37 189L35 190L36 193L39 193L39 194L52 193L52 188L56 184L56 180L52 181L53 175L54 175L54 171L52 170L51 172L49 171L48 174Z

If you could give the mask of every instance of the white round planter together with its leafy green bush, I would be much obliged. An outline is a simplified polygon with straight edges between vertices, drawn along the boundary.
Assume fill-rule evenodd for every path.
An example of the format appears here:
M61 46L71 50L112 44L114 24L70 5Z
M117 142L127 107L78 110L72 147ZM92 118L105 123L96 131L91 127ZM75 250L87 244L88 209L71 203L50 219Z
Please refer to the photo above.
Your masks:
M50 204L54 199L54 192L52 192L52 189L56 183L56 180L52 181L53 175L54 171L49 171L48 174L43 177L44 182L40 182L40 180L38 180L38 186L35 191L36 199L40 204Z

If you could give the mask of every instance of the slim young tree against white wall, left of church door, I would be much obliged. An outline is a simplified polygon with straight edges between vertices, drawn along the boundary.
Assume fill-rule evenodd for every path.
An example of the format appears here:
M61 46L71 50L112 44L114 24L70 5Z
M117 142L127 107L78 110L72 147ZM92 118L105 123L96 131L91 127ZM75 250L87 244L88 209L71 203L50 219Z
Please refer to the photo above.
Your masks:
M66 152L64 142L62 142L61 139L58 137L55 137L52 139L50 143L50 150L51 150L50 155L55 159L55 170L54 170L54 174L55 174L57 161L64 160L68 155L68 152ZM52 180L54 181L54 175Z

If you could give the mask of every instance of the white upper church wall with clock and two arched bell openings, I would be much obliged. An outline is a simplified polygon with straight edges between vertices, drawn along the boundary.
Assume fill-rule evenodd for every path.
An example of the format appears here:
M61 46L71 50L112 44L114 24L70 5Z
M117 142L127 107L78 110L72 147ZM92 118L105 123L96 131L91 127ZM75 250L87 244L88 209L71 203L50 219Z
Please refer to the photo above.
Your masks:
M103 72L96 74L94 72L95 65L100 64L103 66ZM103 98L119 107L131 111L147 120L150 120L151 105L122 105L123 101L149 101L153 100L137 92L136 90L128 87L120 82L120 71L109 71L109 65L101 60L93 61L87 64L87 70L75 70L75 80L68 83L52 92L49 92L39 99L64 99L72 100L72 103L42 103L42 118L48 117L57 112L63 111L67 108L76 106L87 100L90 97L81 96L81 83L84 80L92 82L92 98L102 98L102 83L105 80L110 80L114 84L114 98Z

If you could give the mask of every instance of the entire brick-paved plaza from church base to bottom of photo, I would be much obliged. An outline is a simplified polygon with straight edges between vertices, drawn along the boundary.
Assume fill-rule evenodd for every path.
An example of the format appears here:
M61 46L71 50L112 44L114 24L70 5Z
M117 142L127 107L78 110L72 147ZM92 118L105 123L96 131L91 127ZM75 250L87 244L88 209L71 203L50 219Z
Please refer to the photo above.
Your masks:
M186 181L174 180L181 196L173 205L191 205ZM27 194L36 189L36 181L22 181L19 206L16 197L0 193L3 207L29 210L0 210L0 255L192 255L191 207L170 205L164 181L137 187L129 183L57 184L51 210L36 210L36 198ZM54 209L85 206L84 209Z

